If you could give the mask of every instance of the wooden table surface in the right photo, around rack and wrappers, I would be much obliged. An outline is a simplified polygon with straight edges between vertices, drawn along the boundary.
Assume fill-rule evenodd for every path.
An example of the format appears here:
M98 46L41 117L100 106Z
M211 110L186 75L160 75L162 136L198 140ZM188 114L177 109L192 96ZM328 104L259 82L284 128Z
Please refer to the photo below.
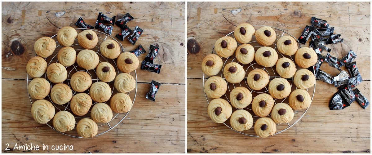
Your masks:
M334 33L344 38L342 43L327 45L332 56L341 59L350 49L356 52L355 61L363 78L357 88L371 101L370 3L189 2L187 9L187 153L371 151L371 106L363 110L354 101L346 109L329 110L328 103L337 91L331 84L316 81L311 106L294 126L275 136L256 138L214 123L208 117L201 70L202 59L212 52L215 41L240 23L276 27L298 38L315 16L327 20ZM309 41L302 46L308 47ZM327 62L320 69L333 76L339 73Z

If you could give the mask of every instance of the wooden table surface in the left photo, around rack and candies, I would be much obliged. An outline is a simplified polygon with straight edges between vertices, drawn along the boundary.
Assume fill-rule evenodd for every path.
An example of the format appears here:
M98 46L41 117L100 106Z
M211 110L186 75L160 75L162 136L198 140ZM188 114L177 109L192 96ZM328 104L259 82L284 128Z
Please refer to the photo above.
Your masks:
M2 2L2 152L32 153L183 153L185 152L185 2ZM95 26L98 13L120 19L129 12L127 25L144 29L132 45L125 40L124 51L142 44L145 50L159 45L154 64L160 74L137 69L137 97L132 110L118 126L94 138L72 138L38 124L31 116L26 85L26 64L35 56L34 43L53 36L79 17ZM81 32L78 31L78 32ZM121 32L114 26L112 37ZM147 55L139 56L140 62ZM156 101L145 95L151 80L161 83ZM35 101L35 100L32 100ZM5 151L17 145L48 145L49 150ZM52 145L73 145L73 151L52 150ZM8 149L9 149L8 148Z

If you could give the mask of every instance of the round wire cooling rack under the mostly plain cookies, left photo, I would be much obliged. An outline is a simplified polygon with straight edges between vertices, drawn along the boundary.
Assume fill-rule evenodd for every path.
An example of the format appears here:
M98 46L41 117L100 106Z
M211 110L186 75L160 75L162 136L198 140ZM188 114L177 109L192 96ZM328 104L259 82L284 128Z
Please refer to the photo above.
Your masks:
M76 30L86 30L86 29L84 29L84 28L78 28L78 29L76 29ZM90 30L92 30L92 29L90 29ZM101 44L103 41L105 41L106 39L108 39L108 37L111 38L111 39L114 40L114 41L116 41L116 39L112 38L111 36L107 35L106 33L100 32L100 31L98 31L98 30L93 30L93 31L96 32L96 34L97 34L97 36L98 36L98 43L97 43L97 45L96 45L92 50L93 50L93 51L97 51L96 53L97 53L97 55L99 56L99 62L109 62L111 65L113 65L113 66L115 67L116 75L120 74L121 71L119 71L119 69L118 69L118 67L117 67L117 65L116 65L116 63L115 63L115 61L114 61L113 59L105 58L105 57L102 56L102 55L100 54L100 52L99 52L99 51L100 51L100 47L99 47L100 44ZM52 36L51 38L55 38L56 36L57 36L57 34L54 35L54 36ZM116 41L116 42L118 42L118 41ZM56 58L56 55L58 54L58 51L62 48L62 45L61 45L60 43L58 43L58 41L56 41L55 43L57 44L57 47L56 47L55 51L53 52L53 54L52 54L51 56L48 56L47 58L45 58L45 61L47 61L48 66L49 66L49 64L51 64L51 63L58 62L58 59ZM120 42L118 42L118 43L119 43L119 45L120 45L121 52L124 52L123 46L121 45ZM77 54L78 54L79 51L84 50L84 48L82 48L82 47L77 43L77 39L75 39L74 44L71 45L71 47L75 49L75 51L77 52ZM71 79L72 75L73 75L75 72L78 72L78 71L87 72L87 73L92 77L92 82L93 82L93 83L94 83L94 82L101 81L101 80L99 80L99 78L97 77L97 75L96 75L96 70L95 70L95 69L93 69L93 70L86 70L86 69L84 69L84 68L79 67L79 66L77 65L76 62L75 62L73 65L71 65L70 67L66 67L66 70L68 71L68 77L67 77L67 79L66 79L64 82L62 82L62 83L67 84L70 88L71 88L71 86L70 86L70 79ZM135 98L136 98L136 95L137 95L137 72L134 70L134 74L133 74L133 72L130 73L130 74L135 78L135 81L136 81L136 87L135 87L134 93L133 93L133 92L132 92L132 93L131 93L131 92L128 92L128 95L129 95L129 97L130 97L131 100L132 100L132 107L133 107L133 104L134 104L134 101L135 101ZM115 76L116 76L116 75L115 75ZM43 76L42 76L42 77L43 77ZM52 83L52 82L48 79L46 73L44 74L44 78L49 82L49 84L51 85L51 88L53 87L53 85L55 85L54 83ZM28 91L28 84L29 84L29 82L30 82L31 80L32 80L32 78L29 77L29 76L27 75L27 80L26 80L26 81L27 81L27 91ZM111 97L112 97L114 94L118 93L118 91L117 91L117 90L114 88L114 86L113 86L113 81L112 81L112 82L109 82L109 83L107 83L107 84L110 86L110 88L111 88L111 90L112 90L112 92L111 92ZM76 91L74 91L73 89L71 89L71 90L73 91L73 96L74 96L75 94L80 93L80 92L76 92ZM115 90L115 91L114 91L114 90ZM89 89L86 90L86 91L84 91L83 93L87 93L87 94L89 94ZM30 97L30 95L29 95L29 98L30 98L31 104L33 104L33 102L32 102L33 99ZM48 100L48 101L50 101L50 102L54 105L54 107L55 107L55 112L56 112L56 113L59 112L59 111L65 110L65 111L68 111L68 112L70 112L71 114L73 114L74 117L75 117L75 120L76 120L76 124L79 122L79 120L81 120L81 119L83 119L83 118L90 118L90 110L89 110L89 112L88 112L87 114L85 114L84 116L77 116L76 114L74 114L74 113L71 111L70 106L69 106L69 105L70 105L70 101L69 101L68 103L63 104L63 105L55 104L55 103L53 103L53 101L51 100L50 94L48 94L48 96L45 97L44 100ZM108 101L106 101L106 102L104 102L104 103L107 103L107 102L109 102L109 101L110 101L110 100L108 100ZM92 104L91 108L92 108L92 107L94 106L94 104L96 104L96 103L98 103L98 102L94 102L94 101L93 101L93 104ZM132 109L132 108L131 108L131 109ZM113 112L113 117L112 117L112 119L111 119L108 123L97 123L97 125L98 125L98 133L97 133L96 136L102 135L103 133L106 133L106 132L110 131L111 129L115 128L116 126L118 126L119 123L121 123L121 122L126 118L126 116L129 114L129 112L130 112L131 109L129 109L127 113L115 113L115 112ZM54 128L53 124L52 124L52 120L50 120L50 121L47 123L47 125L48 125L49 127L51 127L52 129L56 130L56 129ZM59 132L58 130L56 130L56 131ZM77 134L77 132L76 132L76 125L75 125L75 128L74 128L73 130L71 130L71 131L67 131L67 132L64 132L64 133L63 133L63 132L59 132L59 133L62 133L62 134L67 135L67 136L75 137L75 138L82 138L82 137L78 136L78 134Z

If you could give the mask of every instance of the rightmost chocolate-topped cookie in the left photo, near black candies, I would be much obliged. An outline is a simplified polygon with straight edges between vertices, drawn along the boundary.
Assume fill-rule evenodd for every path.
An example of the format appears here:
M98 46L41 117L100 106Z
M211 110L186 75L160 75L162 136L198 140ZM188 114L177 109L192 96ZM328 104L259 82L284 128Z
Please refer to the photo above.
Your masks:
M136 70L140 64L137 56L131 52L123 52L120 54L117 63L119 70L126 73Z

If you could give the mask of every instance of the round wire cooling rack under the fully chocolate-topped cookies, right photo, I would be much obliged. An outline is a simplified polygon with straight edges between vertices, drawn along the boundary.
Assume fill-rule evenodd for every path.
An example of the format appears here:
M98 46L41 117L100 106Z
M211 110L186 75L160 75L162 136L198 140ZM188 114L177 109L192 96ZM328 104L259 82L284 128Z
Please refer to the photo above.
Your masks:
M262 27L262 26L266 26L266 25L254 25L253 27L257 30L257 29L259 29L259 28ZM269 27L271 27L271 26L269 26ZM278 59L280 59L280 58L282 58L282 57L286 57L286 58L291 59L293 62L295 62L295 61L294 61L294 58L292 58L292 57L294 57L294 55L292 55L292 56L288 56L288 55L283 55L283 54L281 54L280 52L278 52L278 50L277 50L277 48L276 48L276 42L277 42L277 41L279 40L279 38L282 37L283 35L288 35L288 36L291 36L292 38L294 38L294 39L297 41L298 48L301 48L301 45L300 45L299 41L298 41L294 36L292 36L292 35L289 34L288 32L285 32L284 30L281 30L281 29L278 29L278 28L274 28L274 27L271 27L271 28L273 28L273 29L275 30L275 32L276 32L276 40L275 40L275 42L273 43L273 45L270 45L270 47L272 47L273 49L275 49L275 51L278 53ZM234 31L232 31L231 33L227 34L226 36L231 36L232 38L235 39L233 33L234 33ZM235 40L236 40L236 39L235 39ZM255 36L253 35L251 42L249 42L248 44L250 44L250 45L253 46L254 51L257 51L258 48L263 47L263 46L260 45L259 43L257 43L257 41L255 41L255 40L256 40L256 38L255 38ZM238 46L241 45L239 42L237 42L237 43L238 43ZM214 51L214 47L213 47L213 49L212 49L212 54L213 54L214 52L215 52L215 51ZM254 70L254 69L260 68L260 69L266 71L266 72L269 74L270 80L273 80L274 78L280 78L280 75L279 75L278 73L276 73L276 70L275 70L275 68L273 68L273 67L263 67L263 66L261 66L261 65L258 65L257 62L255 62L255 63L251 62L250 64L246 64L246 65L244 65L244 64L241 64L240 62L238 62L237 59L236 59L236 57L234 57L234 56L231 56L231 57L228 57L228 58L222 58L222 60L224 60L224 59L225 59L225 62L224 62L224 65L223 65L223 67L222 67L222 69L221 69L221 77L222 77L223 79L225 79L225 78L224 78L224 75L223 75L222 71L224 70L224 67L225 67L225 64L226 64L226 63L237 62L237 63L239 63L240 65L242 65L242 66L243 66L243 69L245 70L245 78L244 78L244 80L243 80L244 82L241 81L240 83L232 84L232 83L229 83L228 81L226 81L226 82L227 82L227 87L228 87L227 90L228 90L228 91L226 91L225 95L222 96L221 98L226 99L229 103L230 103L230 100L229 100L229 97L228 97L228 96L230 96L231 90L234 89L235 87L246 87L246 88L248 88L248 90L251 91L251 94L252 94L252 97L253 97L253 98L254 98L255 96L257 96L258 94L260 94L260 93L267 93L267 94L269 94L269 93L268 93L268 89L267 89L268 85L266 85L265 88L263 88L263 89L261 89L261 90L258 90L258 91L257 91L257 90L252 90L250 87L248 87L248 84L247 84L247 74L248 74L251 70ZM296 71L297 71L297 68L299 68L299 67L296 65ZM301 69L301 68L299 68L299 69ZM315 75L315 72L313 72L313 74ZM206 76L207 78L206 78L205 76ZM203 74L203 88L204 88L205 81L208 80L208 78L209 78L208 75ZM291 82L290 82L290 83L291 83L291 89L292 89L291 92L292 92L293 90L296 90L296 89L297 89L296 85L293 84L293 77L292 77L292 78L286 78L286 80L287 80L287 81L291 81ZM314 87L308 88L307 91L308 91L308 92L312 92L312 96L311 96L311 102L312 102L312 99L314 98L314 94L315 94L315 84L314 84ZM212 100L212 99L209 99L209 98L207 97L206 94L205 94L205 98L206 98L208 104L209 104L209 101ZM284 98L284 99L280 99L280 100L279 100L279 99L274 99L274 103L275 103L275 104L276 104L276 103L287 103L287 104L288 104L288 97L286 97L286 98ZM252 104L248 105L247 107L245 107L245 108L243 108L243 109L244 109L244 110L247 110L248 112L251 113L251 115L252 115L252 117L253 117L253 123L256 123L256 120L259 119L260 117L259 117L259 116L256 116L256 115L253 113L253 110L252 110L252 108L251 108L251 105L252 105ZM310 107L310 106L309 106L309 107ZM289 123L279 123L279 124L276 124L276 128L277 128L276 131L277 131L277 132L276 132L274 135L279 134L279 133L282 133L282 132L284 132L285 130L287 130L287 129L291 128L292 126L294 126L294 125L295 125L295 124L296 124L296 123L297 123L297 122L298 122L298 121L299 121L299 120L300 120L300 119L305 115L305 113L307 112L307 110L309 109L309 107L308 107L307 109L295 110L295 111L294 111L294 119L292 119L291 122L289 122ZM234 112L235 110L238 110L238 109L232 106L232 110L233 110L232 112ZM269 114L268 116L270 116L270 114ZM230 121L229 121L229 120L230 120L230 118L229 118L228 120L226 120L223 124L224 124L225 126L229 127L230 129L234 130L234 129L231 127L231 125L230 125ZM254 127L252 126L251 128L253 129ZM236 131L236 132L238 132L238 133L241 133L241 134L243 134L243 135L247 135L247 136L259 137L259 136L256 135L256 133L255 133L254 130L252 130L252 129L250 129L250 130L244 130L244 131L242 131L242 132L239 132L239 131L237 131L237 130L234 130L234 131Z

